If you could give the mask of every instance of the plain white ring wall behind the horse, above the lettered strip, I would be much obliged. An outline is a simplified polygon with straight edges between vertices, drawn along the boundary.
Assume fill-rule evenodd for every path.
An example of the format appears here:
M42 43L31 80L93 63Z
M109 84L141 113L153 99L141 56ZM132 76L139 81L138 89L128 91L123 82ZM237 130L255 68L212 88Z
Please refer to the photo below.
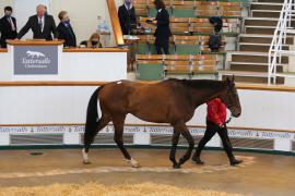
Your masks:
M0 87L0 124L84 123L95 87ZM241 117L229 126L295 130L295 93L238 90ZM21 98L21 99L20 99ZM155 109L156 112L156 109ZM101 112L99 112L101 113ZM204 125L205 106L188 125ZM132 115L128 123L146 123Z

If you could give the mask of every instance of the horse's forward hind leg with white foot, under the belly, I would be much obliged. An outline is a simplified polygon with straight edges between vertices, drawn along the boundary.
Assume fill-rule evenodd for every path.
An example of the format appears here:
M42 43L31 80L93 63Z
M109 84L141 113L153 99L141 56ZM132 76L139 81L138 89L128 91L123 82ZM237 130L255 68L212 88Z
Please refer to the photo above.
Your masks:
M115 135L114 135L114 140L121 150L123 157L133 167L133 168L139 168L140 164L137 160L131 158L129 152L127 151L125 145L123 145L123 123L125 123L125 117L116 117L113 118L114 126L115 126Z

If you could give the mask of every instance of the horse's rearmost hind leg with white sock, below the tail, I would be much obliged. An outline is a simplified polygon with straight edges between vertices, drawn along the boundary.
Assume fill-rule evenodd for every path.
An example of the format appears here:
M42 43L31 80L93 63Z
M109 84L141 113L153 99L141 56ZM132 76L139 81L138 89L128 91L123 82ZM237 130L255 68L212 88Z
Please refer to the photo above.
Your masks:
M84 134L84 148L82 149L82 156L83 156L83 163L90 164L88 160L88 150L91 147L91 144L94 140L94 137L97 135L97 133L103 130L109 122L111 121L110 115L103 114L99 121L97 122L97 127L93 132L85 132Z

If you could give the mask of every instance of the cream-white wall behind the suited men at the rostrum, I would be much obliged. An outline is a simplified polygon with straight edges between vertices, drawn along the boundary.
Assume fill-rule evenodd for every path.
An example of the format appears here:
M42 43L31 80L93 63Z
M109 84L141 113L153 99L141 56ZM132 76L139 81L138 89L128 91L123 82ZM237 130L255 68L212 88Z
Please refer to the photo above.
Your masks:
M91 34L96 30L98 25L98 15L105 19L110 26L106 0L0 0L0 10L3 10L5 5L14 7L16 1L25 2L26 8L32 7L34 11L36 2L39 1L39 3L44 3L44 1L48 1L50 8L49 12L55 16L57 25L59 23L58 13L62 10L68 11L71 17L73 29L78 37L78 42L87 39ZM117 5L122 3L122 0L115 1ZM19 7L14 9L15 13L21 13L21 15L16 14L16 20L19 21L27 19L27 14L23 14L21 9L22 8ZM35 12L31 13L30 15L33 14L35 14ZM22 26L23 23L19 24L19 29L22 28ZM107 39L109 39L109 37ZM115 45L113 35L110 37L109 45Z

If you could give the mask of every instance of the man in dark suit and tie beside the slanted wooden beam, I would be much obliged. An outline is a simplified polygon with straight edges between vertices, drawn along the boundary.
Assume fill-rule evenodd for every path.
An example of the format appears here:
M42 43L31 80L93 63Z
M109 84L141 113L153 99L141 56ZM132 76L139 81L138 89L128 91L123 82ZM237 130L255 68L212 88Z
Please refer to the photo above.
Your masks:
M131 0L125 0L123 5L119 8L118 15L122 34L132 34L132 29L137 28L137 15L135 9L132 5Z

